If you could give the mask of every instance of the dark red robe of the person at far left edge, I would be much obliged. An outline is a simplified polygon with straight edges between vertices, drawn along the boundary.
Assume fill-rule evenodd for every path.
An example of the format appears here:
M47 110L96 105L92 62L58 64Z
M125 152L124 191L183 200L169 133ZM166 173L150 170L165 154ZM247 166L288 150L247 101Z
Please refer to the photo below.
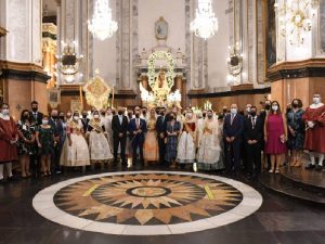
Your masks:
M17 126L14 119L0 113L0 164L17 160L16 144L10 143L17 137Z

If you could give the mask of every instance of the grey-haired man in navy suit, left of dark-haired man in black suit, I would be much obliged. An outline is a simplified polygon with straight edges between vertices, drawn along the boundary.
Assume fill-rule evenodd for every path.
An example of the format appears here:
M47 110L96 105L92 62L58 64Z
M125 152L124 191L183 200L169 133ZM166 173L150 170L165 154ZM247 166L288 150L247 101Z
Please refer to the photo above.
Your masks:
M224 118L223 137L226 149L226 170L227 172L238 172L240 166L240 145L243 140L244 117L238 114L236 104L231 105L231 113Z

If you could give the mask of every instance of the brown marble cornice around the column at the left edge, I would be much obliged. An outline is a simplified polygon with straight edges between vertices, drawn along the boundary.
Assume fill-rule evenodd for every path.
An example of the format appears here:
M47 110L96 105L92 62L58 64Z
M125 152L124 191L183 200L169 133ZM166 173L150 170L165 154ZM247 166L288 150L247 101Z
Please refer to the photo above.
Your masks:
M15 80L35 80L47 84L51 76L41 66L30 63L14 63L0 61L1 78Z

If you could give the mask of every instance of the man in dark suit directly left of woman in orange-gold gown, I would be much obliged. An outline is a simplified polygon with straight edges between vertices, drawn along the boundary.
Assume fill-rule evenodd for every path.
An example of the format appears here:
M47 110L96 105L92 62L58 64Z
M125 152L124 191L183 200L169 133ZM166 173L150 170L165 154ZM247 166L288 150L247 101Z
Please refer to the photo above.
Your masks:
M143 118L140 118L141 111L134 111L135 118L132 118L129 123L129 133L132 144L133 156L132 159L136 162L136 151L139 149L139 157L143 163L143 143L144 143L144 133L146 132L146 123Z

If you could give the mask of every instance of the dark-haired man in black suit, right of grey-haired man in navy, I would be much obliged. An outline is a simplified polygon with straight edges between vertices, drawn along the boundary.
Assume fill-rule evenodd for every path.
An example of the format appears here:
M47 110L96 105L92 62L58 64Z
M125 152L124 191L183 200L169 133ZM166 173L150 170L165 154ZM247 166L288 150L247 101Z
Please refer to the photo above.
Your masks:
M261 172L261 147L263 141L263 120L257 115L257 107L251 106L250 116L245 118L244 140L247 153L248 176L258 178Z

